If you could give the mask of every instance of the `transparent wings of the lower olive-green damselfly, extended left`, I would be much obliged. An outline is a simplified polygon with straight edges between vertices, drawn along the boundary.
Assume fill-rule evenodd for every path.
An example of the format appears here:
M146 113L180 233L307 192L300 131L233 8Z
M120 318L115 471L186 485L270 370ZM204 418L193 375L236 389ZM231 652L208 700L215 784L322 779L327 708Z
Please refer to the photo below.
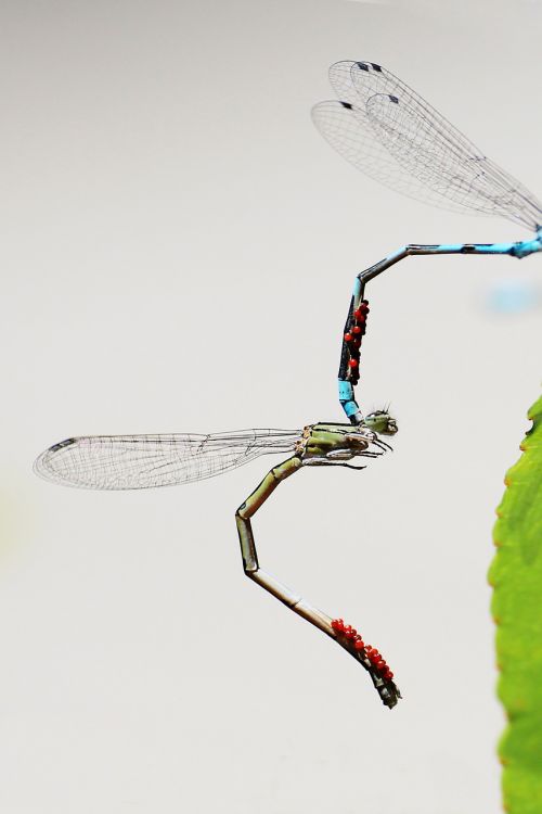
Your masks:
M215 435L87 435L67 438L34 465L41 478L93 489L172 486L214 478L270 453L295 448L301 431L236 430Z

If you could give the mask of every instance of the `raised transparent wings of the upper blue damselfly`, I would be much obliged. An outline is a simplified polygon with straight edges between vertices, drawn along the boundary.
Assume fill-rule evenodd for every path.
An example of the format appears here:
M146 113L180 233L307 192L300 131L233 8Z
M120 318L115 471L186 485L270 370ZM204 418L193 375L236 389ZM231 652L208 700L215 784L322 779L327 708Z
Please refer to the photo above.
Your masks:
M358 169L434 206L496 215L532 230L541 225L534 195L389 71L338 62L330 80L340 101L317 104L312 118Z

